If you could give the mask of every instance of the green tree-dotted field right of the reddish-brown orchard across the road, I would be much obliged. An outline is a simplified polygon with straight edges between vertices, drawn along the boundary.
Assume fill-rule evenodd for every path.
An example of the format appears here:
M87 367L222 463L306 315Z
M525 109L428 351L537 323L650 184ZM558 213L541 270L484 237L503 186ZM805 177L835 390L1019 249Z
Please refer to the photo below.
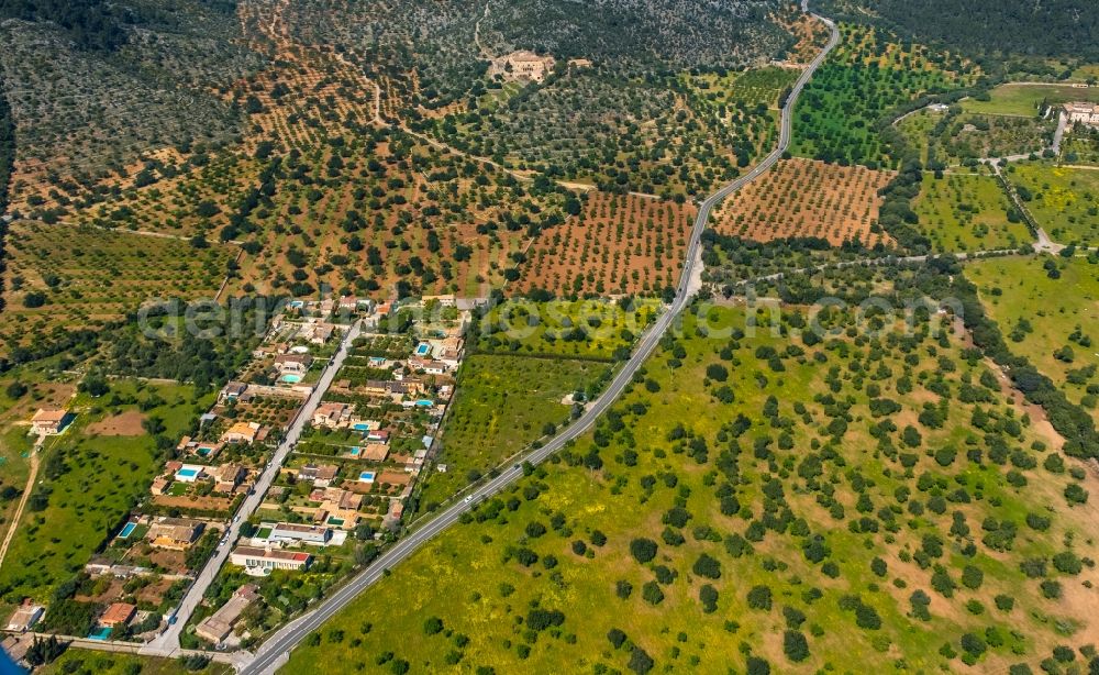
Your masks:
M1025 224L1008 221L1009 207L996 179L976 174L925 174L914 203L920 230L942 252L1013 248L1030 241Z

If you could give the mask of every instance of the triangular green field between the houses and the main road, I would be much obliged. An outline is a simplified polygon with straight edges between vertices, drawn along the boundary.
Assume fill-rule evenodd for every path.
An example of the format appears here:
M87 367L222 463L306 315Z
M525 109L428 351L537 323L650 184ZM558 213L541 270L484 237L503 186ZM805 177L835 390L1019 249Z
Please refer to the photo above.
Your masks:
M428 478L420 502L431 508L569 419L563 399L610 374L592 361L476 354L458 376L443 428L445 474Z

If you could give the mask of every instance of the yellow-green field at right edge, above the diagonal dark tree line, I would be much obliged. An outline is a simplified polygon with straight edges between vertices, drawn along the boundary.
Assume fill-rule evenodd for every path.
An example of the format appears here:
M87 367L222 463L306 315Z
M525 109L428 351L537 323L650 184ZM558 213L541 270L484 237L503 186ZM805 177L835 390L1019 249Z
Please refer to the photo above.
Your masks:
M1056 267L1057 278L1046 265ZM1085 401L1094 411L1096 396L1087 390L1099 385L1092 373L1099 368L1099 350L1090 345L1090 335L1099 336L1097 261L999 258L972 265L966 275L980 289L1008 346L1061 385L1072 401ZM1064 346L1072 350L1070 358L1065 352L1055 355Z

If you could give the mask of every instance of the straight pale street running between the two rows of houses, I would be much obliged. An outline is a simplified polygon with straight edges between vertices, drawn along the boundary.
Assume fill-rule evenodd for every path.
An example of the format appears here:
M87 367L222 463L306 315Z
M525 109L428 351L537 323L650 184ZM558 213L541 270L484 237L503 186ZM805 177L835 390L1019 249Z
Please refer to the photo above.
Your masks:
M229 553L232 551L233 545L241 535L241 525L244 524L244 522L248 520L256 509L259 508L259 505L263 504L268 488L270 488L271 483L275 482L279 469L282 467L282 463L286 462L290 451L293 450L298 439L301 438L302 429L304 429L306 423L313 418L313 411L321 402L321 398L324 396L324 392L328 391L329 387L332 385L332 379L335 377L340 366L343 365L344 358L347 357L347 347L360 332L362 328L358 323L355 323L347 331L340 344L340 348L329 361L329 364L321 374L317 386L313 387L313 392L301 407L298 417L295 418L293 422L287 429L282 442L275 451L270 462L267 464L267 467L256 479L255 489L244 499L241 508L236 511L236 517L232 520L232 522L230 522L227 529L229 540L214 552L213 557L207 562L202 572L200 572L195 578L195 583L191 584L191 587L187 590L182 601L180 601L179 608L176 610L176 623L174 626L169 626L168 629L160 633L156 640L153 640L145 645L141 651L142 654L171 656L179 651L179 634L184 630L184 626L186 626L187 620L190 619L191 615L195 613L195 609L199 606L199 602L202 601L202 597L206 595L210 584L213 583L214 577L218 575L218 571L221 569L221 566L225 564L226 560L229 560Z

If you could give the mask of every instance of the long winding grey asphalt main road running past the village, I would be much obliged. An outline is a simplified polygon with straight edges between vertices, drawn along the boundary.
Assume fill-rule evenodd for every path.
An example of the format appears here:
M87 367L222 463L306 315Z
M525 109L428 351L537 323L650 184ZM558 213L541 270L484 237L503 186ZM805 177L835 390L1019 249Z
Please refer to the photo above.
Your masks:
M628 361L626 364L619 370L618 375L611 381L607 390L592 402L584 416L564 429L562 433L555 436L552 441L523 457L525 461L531 462L532 464L543 462L546 457L563 449L569 441L577 439L588 431L592 424L596 423L596 420L598 420L599 417L622 394L622 390L633 379L634 373L637 372L637 368L640 368L645 359L647 359L653 353L656 345L659 343L660 338L668 330L668 328L673 325L673 322L684 308L687 307L688 302L690 302L692 297L692 294L690 292L690 278L693 273L696 261L698 259L698 253L701 247L702 231L706 230L707 222L710 218L710 211L719 201L732 192L741 189L752 180L755 180L761 174L766 171L776 162L778 162L779 158L781 158L782 153L786 152L787 147L790 145L793 106L797 102L798 95L801 93L801 89L806 86L806 82L809 81L809 78L812 77L813 71L820 66L828 53L832 51L840 40L840 32L836 30L835 24L823 16L818 18L828 24L831 35L829 37L828 45L802 71L801 77L798 78L798 81L790 90L790 95L787 97L787 102L782 108L781 113L778 146L751 171L725 185L699 204L698 217L695 219L695 225L691 230L690 245L687 247L686 264L684 266L682 275L680 275L679 278L679 288L677 290L676 298L671 306L667 311L663 312L656 320L656 323L654 323L650 330L645 332L634 350L633 356L630 357L630 361ZM243 667L241 672L246 674L274 672L289 655L289 651L304 640L306 635L320 628L321 624L343 609L355 597L366 590L367 587L381 578L387 569L412 555L412 553L414 553L422 544L432 540L436 534L454 524L464 512L474 508L478 502L501 491L518 480L522 475L523 472L518 465L504 469L496 478L492 478L485 485L481 485L477 489L473 490L463 501L452 505L442 513L428 521L423 527L398 541L393 544L393 546L371 563L369 567L360 572L358 576L354 577L348 584L325 598L317 607L317 609L300 617L275 633L275 635L273 635L259 649L256 659L251 664Z

